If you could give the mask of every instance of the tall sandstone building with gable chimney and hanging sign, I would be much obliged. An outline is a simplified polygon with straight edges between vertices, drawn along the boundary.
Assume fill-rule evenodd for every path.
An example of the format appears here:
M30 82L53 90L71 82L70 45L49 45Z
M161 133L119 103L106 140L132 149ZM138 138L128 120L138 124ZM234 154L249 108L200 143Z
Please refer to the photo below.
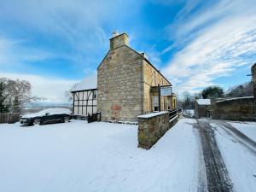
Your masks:
M144 53L129 46L126 33L113 34L97 67L97 111L102 120L137 121L137 116L176 108L172 84Z

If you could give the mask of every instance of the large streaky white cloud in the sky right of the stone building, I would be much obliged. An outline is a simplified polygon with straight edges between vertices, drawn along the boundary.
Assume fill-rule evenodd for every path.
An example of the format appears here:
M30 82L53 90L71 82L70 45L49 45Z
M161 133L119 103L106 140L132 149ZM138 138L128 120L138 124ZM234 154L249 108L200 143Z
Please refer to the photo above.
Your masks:
M253 64L255 8L253 1L221 1L195 11L189 19L186 15L178 18L172 38L175 46L180 41L182 47L163 70L178 92L201 90L237 67Z

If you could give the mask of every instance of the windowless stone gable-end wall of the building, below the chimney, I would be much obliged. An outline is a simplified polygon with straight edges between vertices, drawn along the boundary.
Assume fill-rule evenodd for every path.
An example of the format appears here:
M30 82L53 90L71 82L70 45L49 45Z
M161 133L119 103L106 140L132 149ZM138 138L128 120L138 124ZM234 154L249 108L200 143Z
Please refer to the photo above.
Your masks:
M97 70L102 120L137 121L143 113L143 56L126 45L110 49Z

